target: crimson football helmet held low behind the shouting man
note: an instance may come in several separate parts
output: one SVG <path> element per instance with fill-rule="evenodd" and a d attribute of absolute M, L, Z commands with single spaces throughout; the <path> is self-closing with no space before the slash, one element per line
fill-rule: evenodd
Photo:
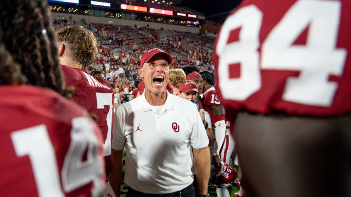
<path fill-rule="evenodd" d="M 235 180 L 235 170 L 232 166 L 221 161 L 220 167 L 211 164 L 210 183 L 215 187 L 230 187 Z"/>

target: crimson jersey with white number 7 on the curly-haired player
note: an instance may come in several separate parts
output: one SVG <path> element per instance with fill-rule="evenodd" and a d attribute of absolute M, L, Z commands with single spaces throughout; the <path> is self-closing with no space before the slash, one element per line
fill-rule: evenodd
<path fill-rule="evenodd" d="M 111 86 L 103 79 L 93 77 L 85 70 L 62 65 L 66 84 L 76 87 L 73 100 L 98 116 L 96 122 L 102 131 L 105 156 L 111 154 L 114 95 Z"/>

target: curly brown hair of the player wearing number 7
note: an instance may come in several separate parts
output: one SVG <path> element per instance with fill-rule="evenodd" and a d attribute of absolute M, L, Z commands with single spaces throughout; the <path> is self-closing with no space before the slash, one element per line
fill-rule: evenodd
<path fill-rule="evenodd" d="M 58 31 L 59 42 L 68 45 L 72 59 L 83 69 L 96 61 L 98 44 L 93 32 L 78 25 L 63 27 Z"/>

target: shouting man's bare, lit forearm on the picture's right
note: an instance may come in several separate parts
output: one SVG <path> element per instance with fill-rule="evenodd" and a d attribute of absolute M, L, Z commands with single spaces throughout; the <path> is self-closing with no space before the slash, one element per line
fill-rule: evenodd
<path fill-rule="evenodd" d="M 194 164 L 197 179 L 197 191 L 201 195 L 207 194 L 210 176 L 210 151 L 208 147 L 193 148 Z"/>

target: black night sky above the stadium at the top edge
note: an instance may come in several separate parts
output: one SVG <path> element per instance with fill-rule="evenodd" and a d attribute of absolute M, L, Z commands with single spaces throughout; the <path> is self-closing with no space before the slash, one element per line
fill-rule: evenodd
<path fill-rule="evenodd" d="M 205 16 L 233 10 L 241 0 L 183 0 L 183 6 L 194 9 Z"/>

